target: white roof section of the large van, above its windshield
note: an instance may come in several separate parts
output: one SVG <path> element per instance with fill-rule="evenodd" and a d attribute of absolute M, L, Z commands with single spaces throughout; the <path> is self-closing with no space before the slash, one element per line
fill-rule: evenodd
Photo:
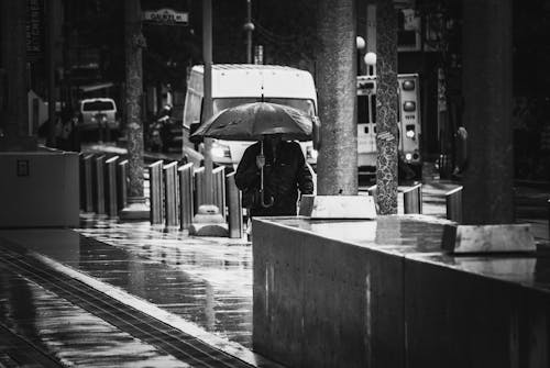
<path fill-rule="evenodd" d="M 193 67 L 188 88 L 202 92 L 204 66 Z M 244 82 L 244 81 L 248 82 Z M 287 66 L 253 64 L 212 65 L 212 98 L 264 97 L 311 99 L 317 93 L 311 74 Z"/>

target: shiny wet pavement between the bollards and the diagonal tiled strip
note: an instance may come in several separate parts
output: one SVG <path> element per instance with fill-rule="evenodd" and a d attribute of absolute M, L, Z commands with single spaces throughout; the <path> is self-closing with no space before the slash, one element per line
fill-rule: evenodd
<path fill-rule="evenodd" d="M 208 332 L 252 347 L 250 244 L 152 231 L 148 223 L 96 219 L 85 226 L 76 230 L 85 236 L 48 231 L 58 232 L 52 239 L 44 237 L 45 231 L 14 230 L 2 234 Z M 62 246 L 56 238 L 65 238 Z"/>

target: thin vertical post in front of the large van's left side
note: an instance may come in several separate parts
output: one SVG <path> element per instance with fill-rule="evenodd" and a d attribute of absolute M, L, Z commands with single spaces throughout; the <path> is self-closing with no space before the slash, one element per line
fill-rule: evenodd
<path fill-rule="evenodd" d="M 202 0 L 202 58 L 205 60 L 205 121 L 212 116 L 212 0 Z M 212 140 L 205 138 L 205 202 L 212 203 Z"/>

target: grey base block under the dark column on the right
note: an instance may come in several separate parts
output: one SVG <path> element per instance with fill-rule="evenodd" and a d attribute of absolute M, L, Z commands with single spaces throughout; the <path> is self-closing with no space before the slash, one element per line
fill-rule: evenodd
<path fill-rule="evenodd" d="M 446 225 L 442 248 L 452 253 L 535 252 L 529 224 Z"/>

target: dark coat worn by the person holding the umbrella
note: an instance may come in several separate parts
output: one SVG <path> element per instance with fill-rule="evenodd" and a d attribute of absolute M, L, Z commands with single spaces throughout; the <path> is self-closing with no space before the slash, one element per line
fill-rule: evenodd
<path fill-rule="evenodd" d="M 252 192 L 260 189 L 260 169 L 256 166 L 256 156 L 260 154 L 260 142 L 244 152 L 237 168 L 235 183 L 243 191 L 243 202 Z M 306 159 L 300 145 L 296 142 L 282 141 L 273 157 L 272 148 L 264 145 L 264 202 L 273 198 L 273 207 L 263 208 L 257 198 L 251 204 L 252 215 L 296 215 L 298 189 L 301 194 L 314 192 L 311 174 L 306 166 Z"/>

